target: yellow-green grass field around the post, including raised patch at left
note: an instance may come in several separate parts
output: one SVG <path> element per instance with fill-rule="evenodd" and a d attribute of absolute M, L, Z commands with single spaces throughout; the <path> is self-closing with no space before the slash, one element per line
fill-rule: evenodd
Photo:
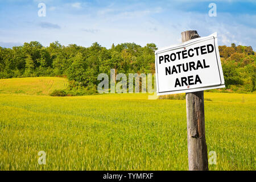
<path fill-rule="evenodd" d="M 0 80 L 0 170 L 188 169 L 184 100 L 36 96 L 49 93 L 51 79 L 55 88 L 67 85 L 64 78 Z M 30 80 L 34 91 L 23 87 Z M 208 152 L 217 154 L 209 169 L 255 170 L 256 94 L 206 92 L 205 98 Z M 46 165 L 38 164 L 39 151 Z"/>

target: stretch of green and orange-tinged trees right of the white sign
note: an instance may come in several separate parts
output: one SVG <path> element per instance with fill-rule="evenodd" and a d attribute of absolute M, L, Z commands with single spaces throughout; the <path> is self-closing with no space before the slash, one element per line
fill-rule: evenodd
<path fill-rule="evenodd" d="M 226 90 L 253 92 L 256 82 L 256 55 L 251 46 L 219 46 Z"/>

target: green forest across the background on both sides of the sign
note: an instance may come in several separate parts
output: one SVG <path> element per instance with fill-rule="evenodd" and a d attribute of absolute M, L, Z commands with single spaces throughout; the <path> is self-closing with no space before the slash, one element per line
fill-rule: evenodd
<path fill-rule="evenodd" d="M 107 49 L 93 43 L 90 47 L 53 42 L 48 47 L 39 42 L 24 43 L 13 48 L 0 47 L 0 78 L 54 76 L 67 77 L 66 90 L 54 94 L 79 96 L 97 93 L 100 73 L 155 73 L 154 43 L 142 47 L 122 43 Z M 256 55 L 251 46 L 219 46 L 225 89 L 211 92 L 254 92 Z"/>

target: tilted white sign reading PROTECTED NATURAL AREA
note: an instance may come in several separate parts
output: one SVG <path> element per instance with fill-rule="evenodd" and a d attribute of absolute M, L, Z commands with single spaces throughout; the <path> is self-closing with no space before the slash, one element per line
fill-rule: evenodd
<path fill-rule="evenodd" d="M 155 51 L 158 96 L 224 88 L 217 33 Z"/>

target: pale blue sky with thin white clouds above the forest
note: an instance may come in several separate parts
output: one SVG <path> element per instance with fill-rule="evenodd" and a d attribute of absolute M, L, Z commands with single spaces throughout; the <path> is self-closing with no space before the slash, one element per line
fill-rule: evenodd
<path fill-rule="evenodd" d="M 46 16 L 38 16 L 38 4 Z M 217 16 L 210 17 L 209 3 Z M 94 42 L 134 42 L 158 47 L 181 43 L 180 32 L 197 30 L 200 36 L 218 34 L 218 44 L 256 48 L 256 1 L 81 1 L 0 0 L 0 46 L 12 47 L 38 41 L 43 46 L 61 44 L 89 47 Z"/>

